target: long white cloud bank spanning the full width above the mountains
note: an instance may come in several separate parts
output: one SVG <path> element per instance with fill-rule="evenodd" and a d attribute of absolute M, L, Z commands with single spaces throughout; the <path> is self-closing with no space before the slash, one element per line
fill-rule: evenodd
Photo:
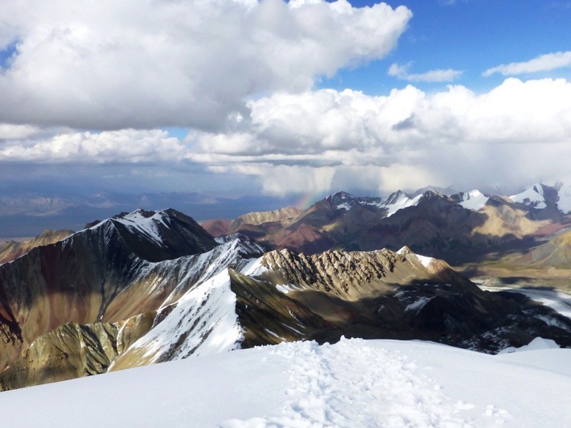
<path fill-rule="evenodd" d="M 525 185 L 568 175 L 570 112 L 565 79 L 507 78 L 481 94 L 460 85 L 436 93 L 408 85 L 383 96 L 279 91 L 248 101 L 229 131 L 193 130 L 184 141 L 159 129 L 46 136 L 5 127 L 0 171 L 16 163 L 52 165 L 54 173 L 92 165 L 123 174 L 125 186 L 140 188 L 146 177 L 145 185 L 160 180 L 164 188 L 270 195 Z"/>

